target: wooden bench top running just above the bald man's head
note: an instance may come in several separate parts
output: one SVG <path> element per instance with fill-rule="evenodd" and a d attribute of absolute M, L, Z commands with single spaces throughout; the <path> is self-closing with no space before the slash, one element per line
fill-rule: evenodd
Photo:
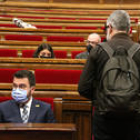
<path fill-rule="evenodd" d="M 104 30 L 80 30 L 80 29 L 23 29 L 23 28 L 0 28 L 1 38 L 4 40 L 6 34 L 38 35 L 47 40 L 48 36 L 79 36 L 85 39 L 90 33 L 98 33 L 105 37 Z M 35 40 L 34 40 L 35 41 Z M 43 41 L 43 40 L 42 40 Z"/>

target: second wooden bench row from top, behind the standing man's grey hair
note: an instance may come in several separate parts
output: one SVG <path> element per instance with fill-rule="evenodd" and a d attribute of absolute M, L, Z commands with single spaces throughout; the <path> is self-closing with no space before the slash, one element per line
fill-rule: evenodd
<path fill-rule="evenodd" d="M 43 18 L 50 18 L 50 17 L 70 17 L 70 18 L 75 18 L 75 19 L 79 19 L 79 18 L 93 18 L 93 17 L 104 17 L 107 18 L 110 13 L 112 13 L 113 10 L 95 10 L 91 9 L 89 11 L 80 11 L 77 9 L 73 9 L 73 10 L 69 10 L 68 9 L 63 9 L 63 10 L 29 10 L 29 9 L 10 9 L 10 8 L 2 8 L 0 10 L 0 14 L 1 15 L 7 15 L 7 16 L 11 16 L 11 17 L 17 17 L 17 18 L 22 18 L 22 17 L 30 17 L 30 18 L 37 18 L 37 19 L 43 19 Z M 127 10 L 128 13 L 130 14 L 131 17 L 135 17 L 135 18 L 139 18 L 139 14 L 140 12 L 138 10 Z"/>

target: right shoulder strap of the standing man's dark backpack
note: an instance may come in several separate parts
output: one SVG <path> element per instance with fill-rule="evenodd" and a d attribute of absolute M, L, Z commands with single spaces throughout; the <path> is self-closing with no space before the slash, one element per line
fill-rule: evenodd
<path fill-rule="evenodd" d="M 132 58 L 133 55 L 140 49 L 140 45 L 138 43 L 134 43 L 132 47 L 128 50 L 129 56 Z"/>

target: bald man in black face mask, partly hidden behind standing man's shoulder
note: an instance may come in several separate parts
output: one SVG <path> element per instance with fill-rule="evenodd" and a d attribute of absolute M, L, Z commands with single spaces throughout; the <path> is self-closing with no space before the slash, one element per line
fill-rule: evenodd
<path fill-rule="evenodd" d="M 86 51 L 76 55 L 76 59 L 87 59 L 92 48 L 101 42 L 101 37 L 97 33 L 92 33 L 88 36 L 86 42 Z"/>

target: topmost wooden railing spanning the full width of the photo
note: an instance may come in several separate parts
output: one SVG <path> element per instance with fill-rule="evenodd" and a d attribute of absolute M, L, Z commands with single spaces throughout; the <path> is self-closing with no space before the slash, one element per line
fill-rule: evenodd
<path fill-rule="evenodd" d="M 70 0 L 69 0 L 70 1 Z M 116 0 L 115 0 L 116 1 Z M 6 2 L 1 2 L 0 6 L 1 7 L 19 7 L 19 8 L 41 8 L 41 9 L 84 9 L 84 10 L 92 10 L 94 9 L 135 9 L 138 10 L 140 9 L 140 5 L 138 4 L 139 1 L 135 0 L 134 2 L 130 0 L 125 0 L 123 4 L 119 3 L 118 0 L 115 2 L 113 1 L 112 3 L 109 3 L 108 1 L 105 0 L 99 0 L 99 2 L 95 2 L 93 4 L 90 2 L 89 4 L 86 4 L 85 1 L 71 1 L 73 3 L 69 3 L 67 1 L 60 0 L 50 0 L 50 3 L 41 3 L 41 2 L 22 2 L 22 1 L 6 1 Z M 77 3 L 74 3 L 77 2 Z M 127 3 L 128 2 L 128 3 Z M 79 4 L 80 3 L 80 4 Z M 115 4 L 114 4 L 115 3 Z"/>

